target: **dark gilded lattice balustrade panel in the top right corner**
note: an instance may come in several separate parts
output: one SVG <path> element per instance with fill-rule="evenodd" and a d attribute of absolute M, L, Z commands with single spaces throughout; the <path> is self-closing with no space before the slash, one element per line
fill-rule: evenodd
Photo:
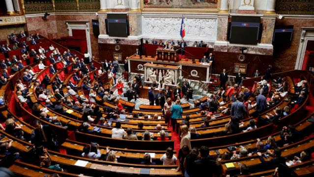
<path fill-rule="evenodd" d="M 314 0 L 277 0 L 276 13 L 314 15 Z"/>

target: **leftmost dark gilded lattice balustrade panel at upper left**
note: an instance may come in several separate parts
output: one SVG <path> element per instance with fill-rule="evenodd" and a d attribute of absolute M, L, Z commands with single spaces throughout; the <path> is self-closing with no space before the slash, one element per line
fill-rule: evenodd
<path fill-rule="evenodd" d="M 24 0 L 25 13 L 45 13 L 53 12 L 52 0 Z"/>

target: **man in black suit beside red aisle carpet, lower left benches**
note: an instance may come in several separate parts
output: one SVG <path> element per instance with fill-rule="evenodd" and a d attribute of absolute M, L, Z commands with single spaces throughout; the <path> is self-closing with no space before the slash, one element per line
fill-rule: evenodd
<path fill-rule="evenodd" d="M 44 146 L 52 149 L 57 148 L 56 134 L 49 125 L 42 125 L 39 120 L 35 120 L 35 129 L 31 133 L 31 143 L 36 147 Z"/>

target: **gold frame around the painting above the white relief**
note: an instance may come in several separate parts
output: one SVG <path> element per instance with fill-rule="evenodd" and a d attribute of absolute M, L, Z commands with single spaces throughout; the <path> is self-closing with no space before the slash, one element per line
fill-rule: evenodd
<path fill-rule="evenodd" d="M 142 12 L 205 12 L 218 13 L 220 10 L 220 0 L 217 0 L 217 8 L 144 8 L 144 0 L 141 0 Z"/>

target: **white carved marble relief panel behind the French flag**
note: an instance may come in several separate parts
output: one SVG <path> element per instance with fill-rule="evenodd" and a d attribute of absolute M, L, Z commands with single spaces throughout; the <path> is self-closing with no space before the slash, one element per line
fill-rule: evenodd
<path fill-rule="evenodd" d="M 159 36 L 166 39 L 180 38 L 181 18 L 143 17 L 144 38 Z M 217 37 L 217 19 L 186 18 L 185 40 L 215 41 Z"/>

